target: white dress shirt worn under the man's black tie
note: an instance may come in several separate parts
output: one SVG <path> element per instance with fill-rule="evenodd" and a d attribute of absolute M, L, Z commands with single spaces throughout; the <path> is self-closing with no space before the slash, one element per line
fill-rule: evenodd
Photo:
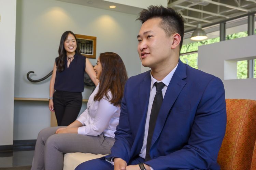
<path fill-rule="evenodd" d="M 172 76 L 177 68 L 178 64 L 176 67 L 165 77 L 161 82 L 165 84 L 165 86 L 162 88 L 162 94 L 163 98 L 165 97 L 165 92 L 167 90 L 167 87 L 172 79 Z M 148 134 L 148 126 L 149 126 L 149 121 L 150 121 L 150 114 L 151 114 L 151 109 L 152 109 L 152 104 L 156 95 L 156 87 L 154 85 L 155 82 L 159 82 L 156 79 L 153 78 L 152 74 L 151 75 L 151 90 L 150 90 L 150 100 L 148 103 L 148 108 L 147 108 L 147 118 L 146 118 L 146 123 L 145 123 L 145 132 L 144 132 L 144 138 L 143 138 L 143 145 L 140 151 L 139 156 L 145 159 L 146 156 L 146 145 L 147 145 L 147 134 Z M 152 168 L 151 168 L 152 169 Z"/>

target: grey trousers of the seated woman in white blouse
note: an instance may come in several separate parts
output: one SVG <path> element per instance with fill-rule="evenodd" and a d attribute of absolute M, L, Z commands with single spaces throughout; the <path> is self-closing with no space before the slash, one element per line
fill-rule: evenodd
<path fill-rule="evenodd" d="M 62 126 L 65 127 L 65 126 Z M 59 127 L 41 130 L 35 144 L 31 170 L 62 170 L 65 153 L 82 152 L 110 154 L 115 139 L 99 136 L 86 136 L 74 133 L 54 134 Z"/>

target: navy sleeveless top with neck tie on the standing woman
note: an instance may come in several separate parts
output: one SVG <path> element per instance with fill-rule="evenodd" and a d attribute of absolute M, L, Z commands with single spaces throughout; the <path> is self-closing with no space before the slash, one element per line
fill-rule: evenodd
<path fill-rule="evenodd" d="M 55 58 L 56 65 L 57 58 Z M 67 57 L 65 57 L 65 69 L 62 72 L 56 71 L 54 89 L 57 91 L 83 92 L 85 59 L 85 56 L 75 54 L 68 68 Z"/>

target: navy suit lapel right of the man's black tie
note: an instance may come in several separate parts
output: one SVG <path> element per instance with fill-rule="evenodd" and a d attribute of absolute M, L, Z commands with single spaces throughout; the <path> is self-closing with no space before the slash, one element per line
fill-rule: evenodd
<path fill-rule="evenodd" d="M 151 147 L 154 145 L 155 141 L 159 137 L 165 124 L 166 118 L 170 112 L 170 109 L 172 108 L 177 97 L 179 96 L 181 90 L 185 86 L 186 82 L 183 79 L 185 79 L 186 77 L 186 66 L 181 61 L 179 61 L 179 65 L 173 74 L 173 77 L 167 87 L 165 97 L 163 98 L 163 102 L 156 120 Z"/>

